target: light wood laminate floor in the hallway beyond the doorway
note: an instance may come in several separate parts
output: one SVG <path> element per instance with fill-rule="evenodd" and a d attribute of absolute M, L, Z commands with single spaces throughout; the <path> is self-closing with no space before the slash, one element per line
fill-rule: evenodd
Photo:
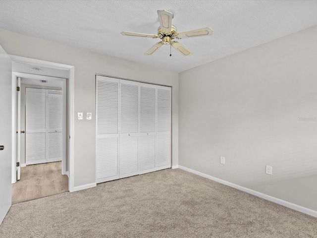
<path fill-rule="evenodd" d="M 12 204 L 68 191 L 68 177 L 61 175 L 61 162 L 28 165 L 21 179 L 12 184 Z"/>

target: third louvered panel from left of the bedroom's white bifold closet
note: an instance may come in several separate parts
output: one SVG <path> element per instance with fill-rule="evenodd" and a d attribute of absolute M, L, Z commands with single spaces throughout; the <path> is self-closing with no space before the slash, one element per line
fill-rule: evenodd
<path fill-rule="evenodd" d="M 140 174 L 156 171 L 157 86 L 140 83 Z"/>

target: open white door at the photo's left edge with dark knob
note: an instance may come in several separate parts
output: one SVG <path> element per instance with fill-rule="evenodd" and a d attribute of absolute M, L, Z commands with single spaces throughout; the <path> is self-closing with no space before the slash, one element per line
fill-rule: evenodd
<path fill-rule="evenodd" d="M 11 206 L 12 81 L 11 59 L 0 46 L 0 224 Z"/>

